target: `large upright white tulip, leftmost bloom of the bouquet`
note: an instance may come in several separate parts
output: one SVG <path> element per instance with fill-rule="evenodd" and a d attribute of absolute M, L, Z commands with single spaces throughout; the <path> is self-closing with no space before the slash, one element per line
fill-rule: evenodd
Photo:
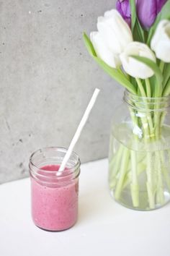
<path fill-rule="evenodd" d="M 90 38 L 94 49 L 110 67 L 119 67 L 120 54 L 128 43 L 133 41 L 130 27 L 117 10 L 112 9 L 98 17 L 97 32 L 91 32 Z"/>

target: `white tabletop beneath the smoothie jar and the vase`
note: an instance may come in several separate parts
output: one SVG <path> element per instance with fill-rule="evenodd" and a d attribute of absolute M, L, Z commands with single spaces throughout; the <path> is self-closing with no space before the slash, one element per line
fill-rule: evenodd
<path fill-rule="evenodd" d="M 1 256 L 170 256 L 170 204 L 149 212 L 117 204 L 107 186 L 107 159 L 81 165 L 79 221 L 38 229 L 30 215 L 30 179 L 0 185 Z"/>

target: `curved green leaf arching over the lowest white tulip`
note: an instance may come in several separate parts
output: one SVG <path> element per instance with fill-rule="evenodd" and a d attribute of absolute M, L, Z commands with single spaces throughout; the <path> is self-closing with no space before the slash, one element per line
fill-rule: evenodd
<path fill-rule="evenodd" d="M 159 69 L 159 67 L 156 65 L 156 63 L 154 61 L 151 61 L 151 59 L 148 59 L 146 57 L 134 56 L 134 55 L 131 57 L 140 62 L 143 62 L 144 64 L 146 64 L 148 67 L 150 67 L 153 70 L 153 72 L 156 76 L 155 97 L 159 97 L 162 93 L 162 81 L 163 81 L 161 69 Z"/>

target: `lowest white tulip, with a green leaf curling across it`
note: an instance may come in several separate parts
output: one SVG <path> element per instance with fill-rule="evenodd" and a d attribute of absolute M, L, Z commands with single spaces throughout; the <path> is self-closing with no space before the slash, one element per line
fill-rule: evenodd
<path fill-rule="evenodd" d="M 151 77 L 154 74 L 153 70 L 146 64 L 131 57 L 132 55 L 146 57 L 156 62 L 156 56 L 153 54 L 153 51 L 151 51 L 145 43 L 132 42 L 129 43 L 125 51 L 120 54 L 120 60 L 122 61 L 122 67 L 125 72 L 132 77 L 141 79 Z"/>

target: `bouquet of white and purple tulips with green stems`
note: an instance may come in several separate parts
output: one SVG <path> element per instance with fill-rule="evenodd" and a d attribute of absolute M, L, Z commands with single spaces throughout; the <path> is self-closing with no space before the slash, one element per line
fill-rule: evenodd
<path fill-rule="evenodd" d="M 116 9 L 98 17 L 97 31 L 90 38 L 84 33 L 84 43 L 99 66 L 130 93 L 133 106 L 129 108 L 133 137 L 109 158 L 110 189 L 121 201 L 129 187 L 133 208 L 164 205 L 166 194 L 170 195 L 169 170 L 164 164 L 167 155 L 170 159 L 170 147 L 165 153 L 158 145 L 164 142 L 167 111 L 162 109 L 170 95 L 170 0 L 117 1 Z M 134 132 L 136 127 L 140 132 Z M 143 145 L 143 153 L 136 153 L 134 145 L 140 150 Z"/>

